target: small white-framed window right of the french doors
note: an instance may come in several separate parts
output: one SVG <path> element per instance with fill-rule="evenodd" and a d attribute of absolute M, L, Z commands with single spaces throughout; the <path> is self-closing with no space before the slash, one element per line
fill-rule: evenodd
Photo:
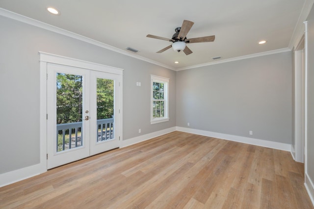
<path fill-rule="evenodd" d="M 169 78 L 151 75 L 151 124 L 169 121 Z"/>

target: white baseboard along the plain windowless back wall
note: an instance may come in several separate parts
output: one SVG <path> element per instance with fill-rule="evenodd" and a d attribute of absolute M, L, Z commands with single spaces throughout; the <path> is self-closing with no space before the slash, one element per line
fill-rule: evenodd
<path fill-rule="evenodd" d="M 245 143 L 245 144 L 252 144 L 252 145 L 257 145 L 257 146 L 268 147 L 268 148 L 273 148 L 273 149 L 277 149 L 277 150 L 284 150 L 284 151 L 291 152 L 291 144 L 285 144 L 285 143 L 280 143 L 280 142 L 249 138 L 249 137 L 244 137 L 244 136 L 236 136 L 236 135 L 230 135 L 230 134 L 225 134 L 225 133 L 217 133 L 217 132 L 211 132 L 211 131 L 189 129 L 189 128 L 183 128 L 183 127 L 177 127 L 177 131 L 194 133 L 194 134 L 198 134 L 198 135 L 204 135 L 204 136 L 209 136 L 209 137 L 226 139 L 229 141 L 236 141 L 236 142 L 241 142 L 241 143 Z"/>

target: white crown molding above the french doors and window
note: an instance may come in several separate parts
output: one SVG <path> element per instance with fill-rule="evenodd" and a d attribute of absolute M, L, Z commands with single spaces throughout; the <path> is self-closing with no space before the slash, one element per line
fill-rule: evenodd
<path fill-rule="evenodd" d="M 50 31 L 58 33 L 58 34 L 65 35 L 65 36 L 68 36 L 68 37 L 71 37 L 71 38 L 74 38 L 74 39 L 77 39 L 80 41 L 84 41 L 86 43 L 89 43 L 89 44 L 92 44 L 92 45 L 95 45 L 98 47 L 102 47 L 104 49 L 107 49 L 107 50 L 110 50 L 113 52 L 117 52 L 117 53 L 121 53 L 121 54 L 124 54 L 127 56 L 131 56 L 135 59 L 149 62 L 149 63 L 155 64 L 155 65 L 158 65 L 158 66 L 170 69 L 170 70 L 174 70 L 174 71 L 176 70 L 175 68 L 168 66 L 168 65 L 165 65 L 161 62 L 157 62 L 157 61 L 154 61 L 152 59 L 148 59 L 148 58 L 140 56 L 140 55 L 132 54 L 131 52 L 123 51 L 121 49 L 118 49 L 118 48 L 112 47 L 110 45 L 104 44 L 100 41 L 96 41 L 94 39 L 87 38 L 87 37 L 79 35 L 77 33 L 74 33 L 74 32 L 71 32 L 71 31 L 56 27 L 56 26 L 49 25 L 47 23 L 43 23 L 43 22 L 40 22 L 38 20 L 34 20 L 32 18 L 11 12 L 11 11 L 3 9 L 3 8 L 0 8 L 0 16 L 7 17 L 7 18 L 10 18 L 10 19 L 22 22 L 22 23 L 26 23 L 28 25 L 32 25 L 32 26 L 40 27 L 40 28 L 43 28 L 46 30 L 50 30 Z"/>

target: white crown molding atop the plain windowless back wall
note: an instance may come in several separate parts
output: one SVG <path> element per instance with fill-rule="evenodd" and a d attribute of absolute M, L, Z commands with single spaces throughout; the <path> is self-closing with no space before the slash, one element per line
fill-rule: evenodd
<path fill-rule="evenodd" d="M 214 61 L 214 62 L 207 62 L 199 65 L 192 65 L 184 68 L 178 68 L 176 71 L 181 71 L 181 70 L 188 70 L 192 68 L 199 68 L 199 67 L 204 67 L 204 66 L 209 66 L 209 65 L 216 65 L 216 64 L 221 64 L 225 62 L 233 62 L 241 59 L 248 59 L 248 58 L 253 58 L 253 57 L 258 57 L 258 56 L 264 56 L 264 55 L 270 55 L 270 54 L 275 54 L 275 53 L 282 53 L 282 52 L 291 52 L 289 48 L 284 48 L 284 49 L 279 49 L 279 50 L 272 50 L 268 52 L 260 52 L 260 53 L 253 53 L 253 54 L 248 54 L 244 56 L 238 56 L 234 58 L 229 58 L 229 59 L 223 59 L 219 61 Z"/>

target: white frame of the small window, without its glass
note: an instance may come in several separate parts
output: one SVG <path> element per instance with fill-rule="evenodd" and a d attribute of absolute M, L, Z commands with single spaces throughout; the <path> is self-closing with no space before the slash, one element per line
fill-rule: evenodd
<path fill-rule="evenodd" d="M 153 82 L 164 84 L 164 116 L 153 118 Z M 151 75 L 151 124 L 169 121 L 169 78 Z"/>

